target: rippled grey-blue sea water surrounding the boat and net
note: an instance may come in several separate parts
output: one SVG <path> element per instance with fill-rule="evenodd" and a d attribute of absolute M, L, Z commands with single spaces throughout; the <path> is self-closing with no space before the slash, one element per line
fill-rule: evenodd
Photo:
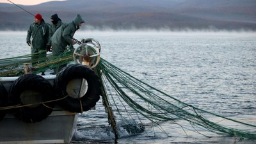
<path fill-rule="evenodd" d="M 102 58 L 183 102 L 256 124 L 256 33 L 77 31 L 74 37 L 95 38 Z M 0 58 L 30 53 L 26 31 L 0 32 L 0 42 Z M 140 134 L 120 132 L 117 142 L 256 143 L 217 134 L 186 135 L 170 122 L 161 127 L 168 136 L 146 126 Z M 115 143 L 101 100 L 95 110 L 79 115 L 77 128 L 72 143 Z"/>

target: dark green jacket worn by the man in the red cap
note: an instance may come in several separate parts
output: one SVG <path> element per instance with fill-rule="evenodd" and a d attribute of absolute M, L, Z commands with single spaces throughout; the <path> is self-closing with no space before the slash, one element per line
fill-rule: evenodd
<path fill-rule="evenodd" d="M 49 40 L 49 26 L 41 21 L 41 24 L 31 24 L 28 29 L 26 42 L 31 42 L 32 49 L 45 50 Z"/>

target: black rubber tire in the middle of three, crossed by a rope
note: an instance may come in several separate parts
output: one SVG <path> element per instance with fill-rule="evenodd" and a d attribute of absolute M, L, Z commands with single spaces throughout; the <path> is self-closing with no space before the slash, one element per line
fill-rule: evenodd
<path fill-rule="evenodd" d="M 16 79 L 10 87 L 8 92 L 8 102 L 10 105 L 24 105 L 21 102 L 20 95 L 26 90 L 35 90 L 44 95 L 42 102 L 52 100 L 55 97 L 54 89 L 47 79 L 35 74 L 26 74 Z M 52 108 L 54 108 L 54 102 L 47 102 L 45 104 L 39 104 L 35 108 L 26 106 L 15 108 L 12 112 L 22 122 L 34 123 L 47 118 L 52 113 Z"/>

